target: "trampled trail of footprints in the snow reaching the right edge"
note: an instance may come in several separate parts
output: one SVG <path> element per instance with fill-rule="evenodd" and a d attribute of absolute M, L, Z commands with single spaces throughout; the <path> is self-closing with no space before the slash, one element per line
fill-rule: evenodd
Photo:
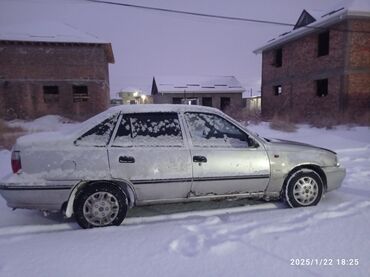
<path fill-rule="evenodd" d="M 227 255 L 258 236 L 274 233 L 306 231 L 322 221 L 358 214 L 369 209 L 370 201 L 345 202 L 324 210 L 316 207 L 303 208 L 293 217 L 275 221 L 240 223 L 238 220 L 224 222 L 213 216 L 197 225 L 183 225 L 188 232 L 169 243 L 169 251 L 183 256 L 196 256 L 203 251 L 215 255 Z"/>

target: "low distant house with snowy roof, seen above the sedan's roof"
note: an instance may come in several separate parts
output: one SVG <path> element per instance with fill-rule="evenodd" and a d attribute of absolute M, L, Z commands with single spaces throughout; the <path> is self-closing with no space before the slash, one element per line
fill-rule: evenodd
<path fill-rule="evenodd" d="M 189 104 L 241 108 L 245 89 L 234 76 L 218 77 L 154 77 L 153 103 Z"/>

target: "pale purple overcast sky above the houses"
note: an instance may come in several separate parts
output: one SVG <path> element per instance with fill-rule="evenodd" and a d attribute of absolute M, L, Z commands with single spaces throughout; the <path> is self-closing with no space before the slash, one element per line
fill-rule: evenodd
<path fill-rule="evenodd" d="M 190 12 L 294 24 L 303 9 L 338 0 L 112 0 Z M 253 50 L 291 29 L 92 3 L 85 0 L 0 0 L 0 26 L 61 22 L 112 43 L 110 91 L 150 94 L 153 76 L 234 75 L 256 94 L 261 55 Z M 51 25 L 52 26 L 52 25 Z"/>

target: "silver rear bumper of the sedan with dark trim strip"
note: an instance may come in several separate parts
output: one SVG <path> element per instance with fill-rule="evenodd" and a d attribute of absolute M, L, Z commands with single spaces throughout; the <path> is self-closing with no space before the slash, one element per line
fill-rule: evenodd
<path fill-rule="evenodd" d="M 0 194 L 11 208 L 59 211 L 68 200 L 72 186 L 57 182 L 7 182 L 0 181 Z"/>

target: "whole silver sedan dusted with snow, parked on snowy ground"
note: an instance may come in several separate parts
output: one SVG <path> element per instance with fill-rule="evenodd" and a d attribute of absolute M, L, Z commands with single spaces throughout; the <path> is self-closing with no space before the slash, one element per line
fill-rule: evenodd
<path fill-rule="evenodd" d="M 345 169 L 335 152 L 270 140 L 214 108 L 127 105 L 68 132 L 21 137 L 0 181 L 12 208 L 62 210 L 83 228 L 119 225 L 134 206 L 220 198 L 316 205 Z"/>

